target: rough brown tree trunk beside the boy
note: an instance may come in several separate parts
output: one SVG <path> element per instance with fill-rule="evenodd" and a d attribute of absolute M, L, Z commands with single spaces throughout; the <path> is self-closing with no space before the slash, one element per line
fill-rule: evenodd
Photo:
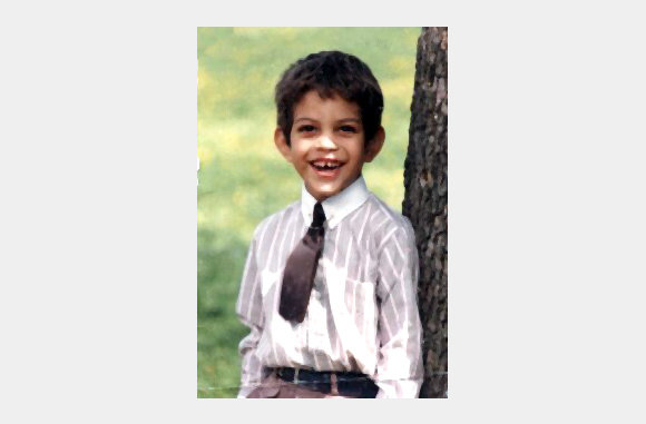
<path fill-rule="evenodd" d="M 402 213 L 415 230 L 424 383 L 420 397 L 447 397 L 447 124 L 448 30 L 423 28 L 418 39 Z"/>

